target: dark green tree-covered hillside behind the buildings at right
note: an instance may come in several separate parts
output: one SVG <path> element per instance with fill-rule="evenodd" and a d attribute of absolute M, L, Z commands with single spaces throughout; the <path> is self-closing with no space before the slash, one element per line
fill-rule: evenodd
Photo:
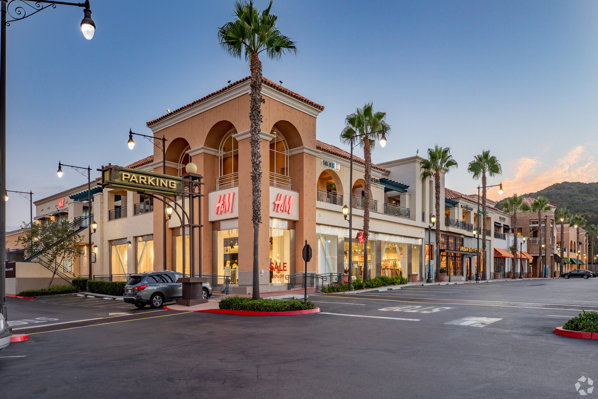
<path fill-rule="evenodd" d="M 506 191 L 508 191 L 508 188 L 506 188 Z M 582 214 L 587 220 L 587 224 L 598 225 L 598 182 L 563 181 L 535 193 L 523 195 L 532 198 L 546 197 L 550 205 L 557 208 L 567 208 L 572 214 Z M 504 202 L 505 200 L 501 200 L 496 204 L 496 207 L 502 209 Z"/>

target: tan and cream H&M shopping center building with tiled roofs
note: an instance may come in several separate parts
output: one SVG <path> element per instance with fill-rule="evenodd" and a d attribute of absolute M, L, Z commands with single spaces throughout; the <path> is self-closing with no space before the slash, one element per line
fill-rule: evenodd
<path fill-rule="evenodd" d="M 437 215 L 437 226 L 428 229 L 434 212 L 434 181 L 420 179 L 422 158 L 417 156 L 372 165 L 370 237 L 363 242 L 364 160 L 353 158 L 351 184 L 349 153 L 316 139 L 316 121 L 324 106 L 266 78 L 261 96 L 261 291 L 285 290 L 288 276 L 303 272 L 305 240 L 315 252 L 307 264 L 310 273 L 350 270 L 359 276 L 367 256 L 371 276 L 414 275 L 423 281 L 426 261 L 434 261 L 438 224 L 441 267 L 447 268 L 452 280 L 474 275 L 478 255 L 485 256 L 489 265 L 484 267 L 483 278 L 492 278 L 496 267 L 503 272 L 510 267 L 510 216 L 489 201 L 487 254 L 481 254 L 481 239 L 478 246 L 473 234 L 478 223 L 477 199 L 445 188 L 444 175 L 440 197 L 445 214 Z M 243 78 L 147 123 L 155 136 L 167 139 L 167 174 L 181 176 L 185 165 L 193 162 L 203 176 L 203 228 L 201 241 L 197 237 L 194 243 L 202 251 L 196 251 L 195 261 L 201 264 L 203 275 L 228 276 L 233 293 L 249 293 L 252 287 L 249 102 L 249 78 Z M 153 156 L 128 167 L 162 173 L 162 150 L 154 148 Z M 162 269 L 188 273 L 189 234 L 182 231 L 178 217 L 167 221 L 163 259 L 161 203 L 120 188 L 96 186 L 91 192 L 97 230 L 91 240 L 87 230 L 81 233 L 86 254 L 72 262 L 74 275 L 89 273 L 89 248 L 97 278 L 124 279 L 131 273 Z M 60 213 L 72 219 L 89 212 L 86 202 L 84 185 L 35 202 L 36 214 L 40 218 Z M 343 217 L 343 205 L 353 207 L 352 233 Z"/>

